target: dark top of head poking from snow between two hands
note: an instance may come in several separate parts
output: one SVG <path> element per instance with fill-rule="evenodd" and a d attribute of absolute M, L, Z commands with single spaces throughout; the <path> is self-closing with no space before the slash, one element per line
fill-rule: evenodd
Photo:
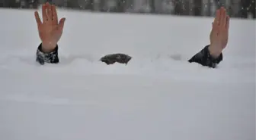
<path fill-rule="evenodd" d="M 114 64 L 116 62 L 120 64 L 128 64 L 131 59 L 132 57 L 127 54 L 107 54 L 102 57 L 100 61 L 105 62 L 107 65 Z"/>

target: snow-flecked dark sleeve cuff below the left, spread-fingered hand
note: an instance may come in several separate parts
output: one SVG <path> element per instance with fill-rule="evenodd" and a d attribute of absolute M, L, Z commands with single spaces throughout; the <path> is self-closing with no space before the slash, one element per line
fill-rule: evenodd
<path fill-rule="evenodd" d="M 58 58 L 58 45 L 54 50 L 50 53 L 45 53 L 42 51 L 42 44 L 40 44 L 37 48 L 37 62 L 40 64 L 50 63 L 50 64 L 57 64 L 59 63 Z"/>

